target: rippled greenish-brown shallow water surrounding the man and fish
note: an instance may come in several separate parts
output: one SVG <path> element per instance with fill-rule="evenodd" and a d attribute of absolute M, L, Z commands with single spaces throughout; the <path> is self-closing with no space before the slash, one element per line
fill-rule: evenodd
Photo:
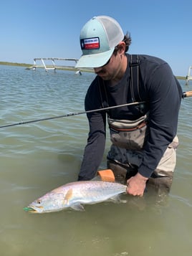
<path fill-rule="evenodd" d="M 94 76 L 0 66 L 0 125 L 84 111 Z M 183 91 L 192 90 L 180 82 Z M 95 204 L 85 212 L 29 214 L 23 207 L 77 179 L 86 115 L 0 128 L 0 255 L 191 255 L 191 105 L 192 98 L 182 100 L 171 193 L 164 199 L 125 195 L 126 204 Z M 108 140 L 105 156 L 109 146 Z"/>

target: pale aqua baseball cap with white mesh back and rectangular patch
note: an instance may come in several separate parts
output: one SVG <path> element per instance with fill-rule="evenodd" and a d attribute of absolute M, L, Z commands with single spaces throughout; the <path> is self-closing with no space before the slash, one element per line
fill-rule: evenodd
<path fill-rule="evenodd" d="M 124 38 L 120 24 L 110 16 L 95 16 L 80 32 L 82 56 L 75 67 L 101 67 Z"/>

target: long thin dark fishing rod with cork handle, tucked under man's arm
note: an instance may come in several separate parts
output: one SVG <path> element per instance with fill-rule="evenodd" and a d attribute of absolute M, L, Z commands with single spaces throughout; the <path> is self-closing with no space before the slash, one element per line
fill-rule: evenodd
<path fill-rule="evenodd" d="M 182 93 L 182 98 L 187 98 L 187 97 L 192 97 L 192 90 Z M 102 110 L 110 110 L 112 108 L 120 108 L 120 107 L 129 106 L 129 105 L 138 105 L 138 104 L 141 104 L 141 103 L 145 103 L 145 101 L 135 102 L 135 103 L 126 103 L 126 104 L 123 104 L 123 105 L 115 105 L 115 106 L 111 106 L 111 107 L 107 107 L 107 108 L 97 108 L 97 109 L 94 109 L 94 110 L 87 110 L 87 111 L 82 111 L 82 112 L 77 112 L 77 113 L 68 113 L 68 114 L 65 114 L 65 115 L 57 115 L 57 116 L 52 116 L 52 117 L 49 117 L 49 118 L 39 118 L 39 119 L 34 119 L 34 120 L 21 121 L 19 123 L 11 123 L 11 124 L 8 124 L 8 125 L 1 125 L 0 128 L 6 128 L 6 127 L 11 127 L 11 126 L 16 126 L 16 125 L 25 125 L 27 123 L 37 123 L 37 122 L 40 122 L 40 121 L 52 120 L 52 119 L 57 119 L 57 118 L 67 118 L 67 117 L 72 116 L 72 115 L 82 115 L 82 114 L 93 113 L 93 112 L 98 112 L 98 111 L 102 111 Z"/>

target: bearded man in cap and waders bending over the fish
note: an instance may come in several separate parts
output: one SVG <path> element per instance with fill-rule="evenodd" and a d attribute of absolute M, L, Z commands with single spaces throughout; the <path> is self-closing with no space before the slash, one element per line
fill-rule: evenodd
<path fill-rule="evenodd" d="M 182 92 L 165 61 L 125 53 L 130 43 L 130 35 L 124 36 L 109 16 L 95 16 L 82 27 L 76 67 L 92 67 L 97 75 L 87 90 L 85 110 L 116 108 L 87 113 L 90 133 L 79 180 L 97 173 L 107 116 L 112 141 L 107 167 L 117 180 L 127 180 L 128 194 L 143 196 L 146 183 L 170 189 Z"/>

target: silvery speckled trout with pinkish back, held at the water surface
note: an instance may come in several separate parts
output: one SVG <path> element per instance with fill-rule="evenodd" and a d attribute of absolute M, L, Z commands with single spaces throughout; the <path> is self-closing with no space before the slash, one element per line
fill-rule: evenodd
<path fill-rule="evenodd" d="M 76 181 L 59 186 L 25 207 L 26 212 L 57 212 L 72 208 L 83 211 L 82 204 L 97 204 L 117 199 L 127 186 L 108 181 Z"/>

